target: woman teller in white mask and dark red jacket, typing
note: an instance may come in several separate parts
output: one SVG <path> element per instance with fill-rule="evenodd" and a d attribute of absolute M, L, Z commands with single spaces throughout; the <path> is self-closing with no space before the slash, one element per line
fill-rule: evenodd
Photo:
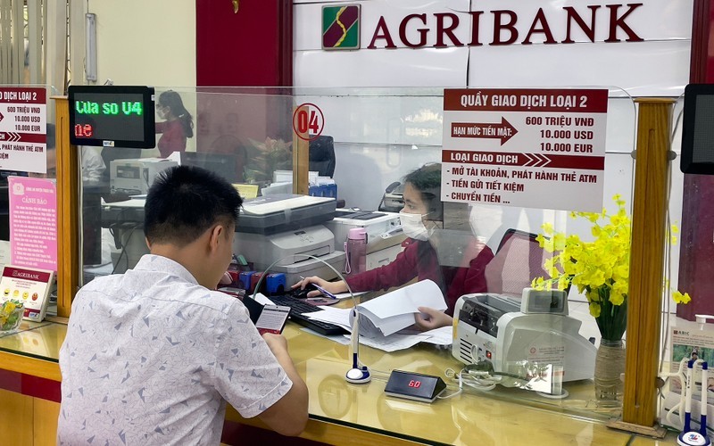
<path fill-rule="evenodd" d="M 446 326 L 452 323 L 453 307 L 463 294 L 486 292 L 486 265 L 494 253 L 486 244 L 477 243 L 473 237 L 465 246 L 465 255 L 459 266 L 444 266 L 439 262 L 437 250 L 444 243 L 444 205 L 441 202 L 441 164 L 433 163 L 411 171 L 404 177 L 404 207 L 399 212 L 402 228 L 407 238 L 403 251 L 383 267 L 370 269 L 346 278 L 345 281 L 328 282 L 320 277 L 305 277 L 293 285 L 304 288 L 308 284 L 319 285 L 328 293 L 345 293 L 347 284 L 353 292 L 387 290 L 401 286 L 413 278 L 431 279 L 444 293 L 448 309 L 446 313 L 419 307 L 421 314 L 415 316 L 422 329 Z M 311 291 L 309 297 L 319 295 Z"/>

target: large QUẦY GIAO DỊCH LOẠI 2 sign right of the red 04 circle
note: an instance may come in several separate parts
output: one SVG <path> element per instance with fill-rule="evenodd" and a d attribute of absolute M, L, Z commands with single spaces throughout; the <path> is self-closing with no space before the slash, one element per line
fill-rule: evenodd
<path fill-rule="evenodd" d="M 608 91 L 444 90 L 444 202 L 602 211 Z"/>

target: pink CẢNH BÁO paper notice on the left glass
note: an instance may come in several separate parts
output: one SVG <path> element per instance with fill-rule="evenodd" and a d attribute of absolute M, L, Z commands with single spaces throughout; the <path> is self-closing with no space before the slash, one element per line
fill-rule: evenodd
<path fill-rule="evenodd" d="M 57 187 L 46 178 L 8 177 L 10 261 L 57 270 Z"/>

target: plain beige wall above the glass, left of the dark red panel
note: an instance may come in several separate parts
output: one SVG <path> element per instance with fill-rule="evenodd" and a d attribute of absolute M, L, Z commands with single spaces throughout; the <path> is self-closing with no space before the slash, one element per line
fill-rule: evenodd
<path fill-rule="evenodd" d="M 195 0 L 88 0 L 87 12 L 98 84 L 195 86 Z"/>

